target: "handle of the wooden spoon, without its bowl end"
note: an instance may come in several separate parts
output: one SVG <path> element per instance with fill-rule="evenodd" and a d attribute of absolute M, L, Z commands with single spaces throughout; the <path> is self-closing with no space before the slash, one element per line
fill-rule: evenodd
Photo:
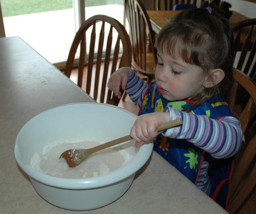
<path fill-rule="evenodd" d="M 162 130 L 170 129 L 170 128 L 174 127 L 174 126 L 181 125 L 181 124 L 182 124 L 182 118 L 179 118 L 179 119 L 176 119 L 176 120 L 164 123 L 162 125 L 159 125 L 156 128 L 156 130 L 157 131 L 162 131 Z M 130 135 L 126 135 L 124 137 L 120 137 L 120 138 L 115 139 L 113 141 L 109 141 L 107 143 L 103 143 L 101 145 L 98 145 L 98 146 L 93 147 L 93 148 L 88 149 L 88 150 L 90 150 L 91 153 L 94 153 L 94 152 L 100 151 L 102 149 L 106 149 L 108 147 L 112 147 L 112 146 L 117 145 L 119 143 L 123 143 L 123 142 L 130 141 L 130 140 L 132 140 L 131 136 Z"/>

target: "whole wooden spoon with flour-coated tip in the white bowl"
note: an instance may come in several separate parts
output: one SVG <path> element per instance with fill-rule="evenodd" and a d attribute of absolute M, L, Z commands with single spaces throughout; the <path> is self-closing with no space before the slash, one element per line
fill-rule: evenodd
<path fill-rule="evenodd" d="M 178 126 L 178 125 L 181 125 L 181 124 L 182 124 L 182 119 L 179 118 L 179 119 L 170 121 L 168 123 L 164 123 L 162 125 L 159 125 L 156 128 L 156 130 L 157 131 L 163 131 L 165 129 L 170 129 L 171 127 Z M 75 167 L 78 164 L 80 164 L 80 162 L 82 162 L 84 159 L 86 159 L 89 155 L 91 155 L 92 153 L 98 152 L 102 149 L 106 149 L 108 147 L 112 147 L 112 146 L 117 145 L 119 143 L 123 143 L 125 141 L 130 141 L 130 140 L 132 140 L 130 135 L 126 135 L 124 137 L 120 137 L 120 138 L 115 139 L 113 141 L 109 141 L 107 143 L 98 145 L 96 147 L 92 147 L 90 149 L 68 149 L 60 155 L 60 158 L 66 159 L 69 167 Z"/>

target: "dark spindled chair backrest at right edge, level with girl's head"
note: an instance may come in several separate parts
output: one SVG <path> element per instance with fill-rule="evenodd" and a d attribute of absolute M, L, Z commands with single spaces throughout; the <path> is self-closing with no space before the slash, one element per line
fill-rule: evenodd
<path fill-rule="evenodd" d="M 238 70 L 244 72 L 252 79 L 256 73 L 256 19 L 239 22 L 233 28 Z"/>

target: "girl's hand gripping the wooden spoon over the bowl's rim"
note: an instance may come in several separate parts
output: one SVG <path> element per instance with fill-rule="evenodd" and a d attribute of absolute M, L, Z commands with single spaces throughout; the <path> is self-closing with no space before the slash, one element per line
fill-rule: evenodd
<path fill-rule="evenodd" d="M 156 128 L 168 121 L 170 121 L 169 112 L 154 112 L 140 115 L 130 131 L 130 136 L 136 141 L 135 146 L 140 147 L 146 141 L 154 139 L 160 134 L 160 132 L 156 131 Z"/>

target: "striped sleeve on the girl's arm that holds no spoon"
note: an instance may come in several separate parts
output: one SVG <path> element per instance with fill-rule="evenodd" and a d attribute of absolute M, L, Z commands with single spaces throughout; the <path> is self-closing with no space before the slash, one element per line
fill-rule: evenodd
<path fill-rule="evenodd" d="M 136 75 L 132 69 L 130 69 L 128 82 L 126 85 L 126 93 L 139 108 L 147 88 L 148 84 L 141 77 Z"/>

